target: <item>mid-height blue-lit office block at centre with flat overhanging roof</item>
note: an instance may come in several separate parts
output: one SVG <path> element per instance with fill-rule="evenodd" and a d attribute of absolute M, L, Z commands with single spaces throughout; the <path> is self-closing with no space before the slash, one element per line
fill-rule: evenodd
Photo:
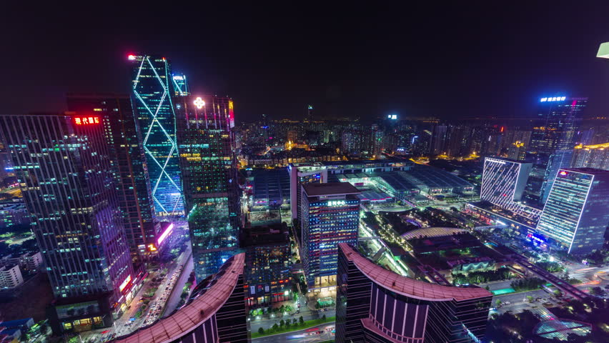
<path fill-rule="evenodd" d="M 336 285 L 339 243 L 357 244 L 361 194 L 347 182 L 302 185 L 300 257 L 310 288 Z"/>

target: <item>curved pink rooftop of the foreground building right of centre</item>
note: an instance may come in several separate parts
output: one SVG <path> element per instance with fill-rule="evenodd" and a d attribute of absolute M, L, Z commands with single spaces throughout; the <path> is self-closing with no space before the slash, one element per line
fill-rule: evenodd
<path fill-rule="evenodd" d="M 422 282 L 410 277 L 404 277 L 400 274 L 391 272 L 377 264 L 374 264 L 370 259 L 362 256 L 353 247 L 347 243 L 340 243 L 339 249 L 345 253 L 347 259 L 355 264 L 360 272 L 366 275 L 368 279 L 380 287 L 389 289 L 392 292 L 402 294 L 405 297 L 411 297 L 430 302 L 446 302 L 451 300 L 462 301 L 469 299 L 492 297 L 492 293 L 480 287 L 462 288 L 442 286 L 440 284 L 430 284 Z"/>

